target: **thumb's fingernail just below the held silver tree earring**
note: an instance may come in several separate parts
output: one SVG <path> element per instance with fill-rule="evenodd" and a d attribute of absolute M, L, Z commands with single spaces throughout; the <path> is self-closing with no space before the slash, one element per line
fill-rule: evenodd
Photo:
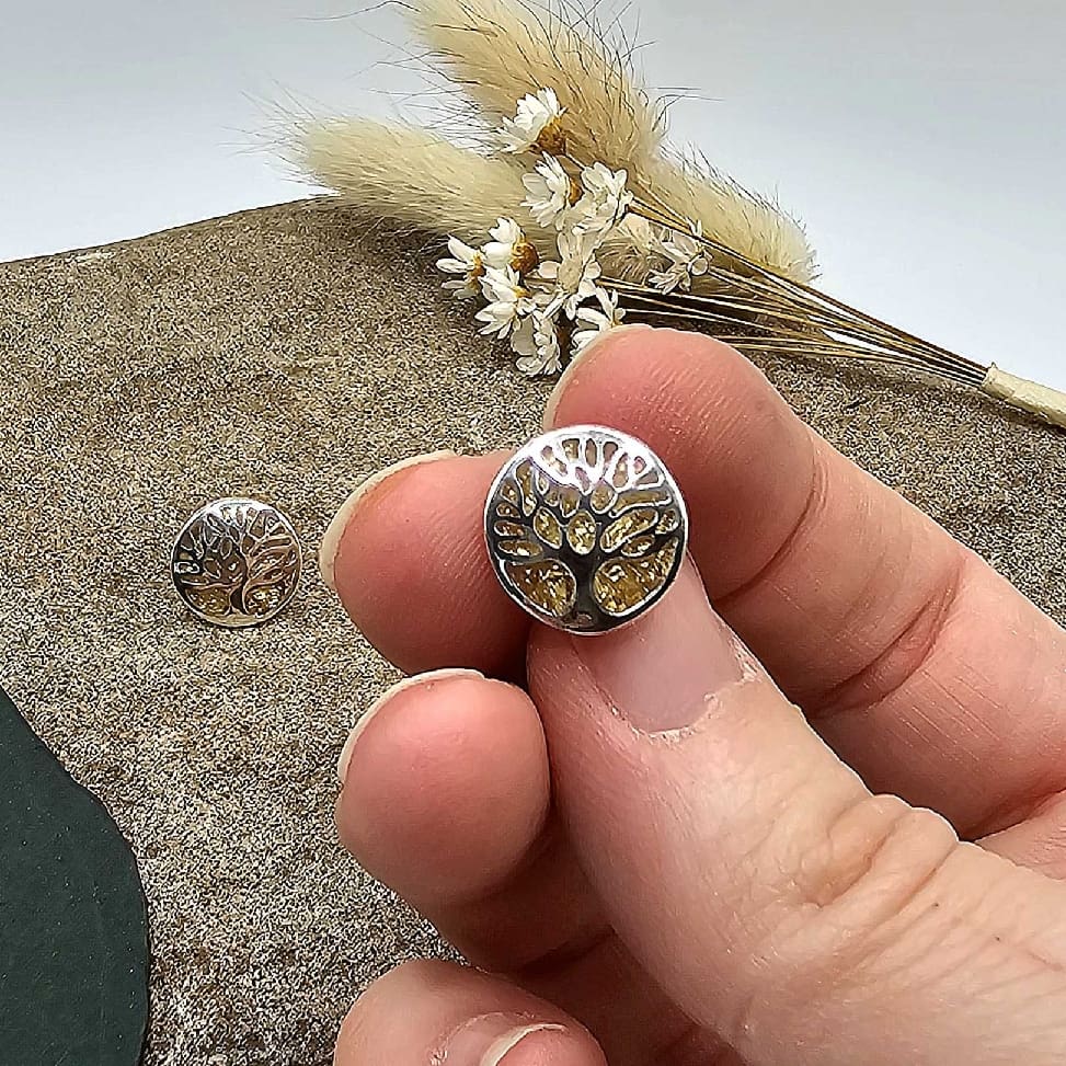
<path fill-rule="evenodd" d="M 746 652 L 708 603 L 691 559 L 662 603 L 631 626 L 573 640 L 616 713 L 643 733 L 694 725 L 747 673 Z"/>

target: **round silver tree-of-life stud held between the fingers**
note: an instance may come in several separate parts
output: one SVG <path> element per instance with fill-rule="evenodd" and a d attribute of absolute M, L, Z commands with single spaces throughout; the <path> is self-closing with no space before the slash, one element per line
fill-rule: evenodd
<path fill-rule="evenodd" d="M 485 503 L 500 583 L 555 629 L 595 635 L 662 599 L 685 559 L 688 515 L 669 471 L 635 437 L 553 429 L 500 471 Z"/>

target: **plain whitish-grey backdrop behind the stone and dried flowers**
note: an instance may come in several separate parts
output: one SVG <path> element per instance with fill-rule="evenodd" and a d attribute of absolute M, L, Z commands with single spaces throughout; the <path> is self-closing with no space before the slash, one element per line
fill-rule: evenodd
<path fill-rule="evenodd" d="M 343 4 L 5 0 L 0 260 L 302 195 L 268 144 L 284 107 L 388 115 L 388 92 L 422 88 L 389 65 L 397 10 Z M 649 82 L 700 93 L 676 138 L 806 220 L 824 287 L 1066 387 L 1062 0 L 635 0 L 638 16 Z"/>

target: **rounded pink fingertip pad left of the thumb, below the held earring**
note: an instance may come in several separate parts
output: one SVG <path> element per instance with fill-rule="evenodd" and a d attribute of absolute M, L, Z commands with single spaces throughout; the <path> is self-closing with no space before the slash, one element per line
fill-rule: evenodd
<path fill-rule="evenodd" d="M 550 784 L 528 696 L 470 672 L 413 678 L 351 745 L 342 843 L 424 907 L 503 881 L 543 828 Z"/>

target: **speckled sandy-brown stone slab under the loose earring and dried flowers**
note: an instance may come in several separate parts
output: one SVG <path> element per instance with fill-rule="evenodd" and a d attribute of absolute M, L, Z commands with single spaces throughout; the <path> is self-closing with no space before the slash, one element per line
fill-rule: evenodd
<path fill-rule="evenodd" d="M 325 1066 L 366 984 L 439 950 L 336 844 L 336 756 L 392 672 L 314 566 L 364 477 L 539 424 L 549 386 L 472 337 L 435 252 L 299 203 L 0 265 L 0 683 L 140 862 L 149 1066 Z M 895 375 L 763 366 L 1066 617 L 1066 434 Z M 309 565 L 282 619 L 227 632 L 167 563 L 192 511 L 243 494 L 293 518 Z"/>

